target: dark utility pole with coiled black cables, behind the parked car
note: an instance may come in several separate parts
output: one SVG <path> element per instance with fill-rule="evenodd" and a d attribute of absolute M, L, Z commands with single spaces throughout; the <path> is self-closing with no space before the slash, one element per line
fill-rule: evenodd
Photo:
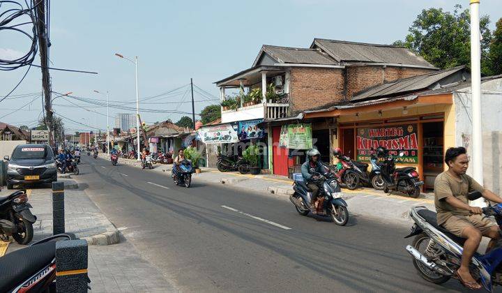
<path fill-rule="evenodd" d="M 37 5 L 40 3 L 40 5 Z M 48 29 L 45 24 L 47 24 L 47 17 L 45 16 L 45 0 L 33 0 L 33 6 L 36 6 L 36 30 L 38 36 L 38 50 L 40 52 L 40 68 L 42 70 L 42 87 L 45 100 L 45 124 L 47 125 L 47 130 L 49 131 L 49 145 L 54 147 L 54 137 L 53 137 L 53 127 L 52 127 L 52 106 L 51 106 L 51 86 L 50 86 L 50 75 L 48 61 L 49 61 L 49 47 L 47 45 L 47 33 Z"/>

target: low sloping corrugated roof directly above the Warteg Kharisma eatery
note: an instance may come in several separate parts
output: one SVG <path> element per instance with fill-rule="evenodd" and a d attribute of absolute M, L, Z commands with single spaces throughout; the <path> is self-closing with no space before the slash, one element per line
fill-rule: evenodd
<path fill-rule="evenodd" d="M 377 98 L 383 96 L 396 95 L 399 93 L 408 93 L 413 91 L 427 90 L 432 84 L 443 80 L 459 70 L 463 70 L 465 66 L 457 66 L 454 68 L 435 71 L 425 75 L 417 75 L 413 77 L 404 78 L 402 80 L 395 80 L 394 82 L 387 82 L 365 91 L 358 93 L 351 98 L 351 101 L 366 100 L 369 98 Z"/>

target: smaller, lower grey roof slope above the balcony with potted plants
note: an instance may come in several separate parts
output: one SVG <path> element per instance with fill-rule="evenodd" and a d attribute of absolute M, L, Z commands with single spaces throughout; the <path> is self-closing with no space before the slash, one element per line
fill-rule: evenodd
<path fill-rule="evenodd" d="M 264 45 L 261 50 L 275 59 L 277 63 L 337 65 L 337 62 L 328 54 L 315 49 Z"/>

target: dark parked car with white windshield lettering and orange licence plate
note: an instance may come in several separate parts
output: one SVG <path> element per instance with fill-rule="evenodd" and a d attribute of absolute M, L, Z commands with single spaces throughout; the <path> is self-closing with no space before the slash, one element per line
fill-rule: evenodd
<path fill-rule="evenodd" d="M 20 144 L 8 160 L 7 189 L 14 184 L 52 183 L 57 181 L 54 154 L 47 144 Z"/>

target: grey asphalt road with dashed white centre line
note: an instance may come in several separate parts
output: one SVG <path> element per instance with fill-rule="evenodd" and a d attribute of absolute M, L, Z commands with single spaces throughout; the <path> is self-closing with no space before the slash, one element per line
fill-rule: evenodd
<path fill-rule="evenodd" d="M 197 179 L 182 188 L 164 174 L 83 158 L 80 186 L 183 292 L 462 290 L 417 275 L 404 227 L 362 216 L 338 227 L 298 215 L 284 198 Z"/>

